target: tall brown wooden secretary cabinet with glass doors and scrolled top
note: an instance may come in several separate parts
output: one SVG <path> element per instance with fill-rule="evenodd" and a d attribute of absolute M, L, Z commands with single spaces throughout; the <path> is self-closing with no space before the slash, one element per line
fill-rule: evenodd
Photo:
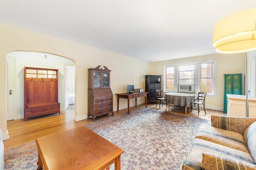
<path fill-rule="evenodd" d="M 110 71 L 106 66 L 88 68 L 88 119 L 113 111 L 113 93 L 110 88 Z"/>

